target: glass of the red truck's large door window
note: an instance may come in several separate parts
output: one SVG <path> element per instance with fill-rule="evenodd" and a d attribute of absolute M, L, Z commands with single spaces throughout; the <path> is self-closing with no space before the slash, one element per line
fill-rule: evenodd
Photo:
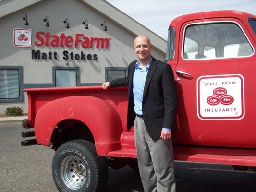
<path fill-rule="evenodd" d="M 253 48 L 235 22 L 189 24 L 185 27 L 183 59 L 248 57 Z M 187 55 L 187 58 L 184 57 Z"/>

